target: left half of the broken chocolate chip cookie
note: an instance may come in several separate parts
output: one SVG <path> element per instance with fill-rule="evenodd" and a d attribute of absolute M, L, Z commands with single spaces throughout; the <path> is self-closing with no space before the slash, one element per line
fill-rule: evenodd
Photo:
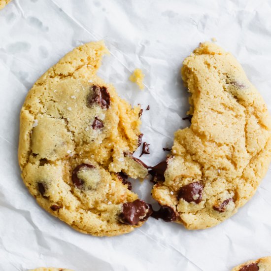
<path fill-rule="evenodd" d="M 36 81 L 20 115 L 25 185 L 45 210 L 95 236 L 129 233 L 151 212 L 127 181 L 148 173 L 133 157 L 140 107 L 96 75 L 106 53 L 103 42 L 68 53 Z"/>

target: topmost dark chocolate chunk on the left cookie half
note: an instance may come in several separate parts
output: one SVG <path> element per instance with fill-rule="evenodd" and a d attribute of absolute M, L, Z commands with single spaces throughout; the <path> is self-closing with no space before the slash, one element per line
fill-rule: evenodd
<path fill-rule="evenodd" d="M 91 107 L 91 105 L 95 102 L 98 103 L 103 109 L 109 108 L 110 94 L 107 91 L 107 88 L 93 85 L 91 89 L 93 93 L 87 97 L 87 106 Z"/>

